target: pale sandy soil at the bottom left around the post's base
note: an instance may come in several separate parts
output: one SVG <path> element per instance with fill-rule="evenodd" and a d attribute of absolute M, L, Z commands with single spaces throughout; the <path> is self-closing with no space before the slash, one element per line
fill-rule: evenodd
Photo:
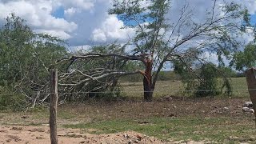
<path fill-rule="evenodd" d="M 0 126 L 0 143 L 50 143 L 48 126 Z M 117 134 L 85 134 L 78 129 L 58 129 L 58 143 L 166 143 L 134 131 Z"/>

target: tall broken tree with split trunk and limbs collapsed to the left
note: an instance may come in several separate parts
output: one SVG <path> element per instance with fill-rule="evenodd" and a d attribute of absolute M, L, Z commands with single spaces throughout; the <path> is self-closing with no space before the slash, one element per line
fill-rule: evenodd
<path fill-rule="evenodd" d="M 246 31 L 248 13 L 234 2 L 218 5 L 213 1 L 212 9 L 206 11 L 206 18 L 195 22 L 192 10 L 188 4 L 182 7 L 178 21 L 172 23 L 167 18 L 170 11 L 170 0 L 139 1 L 114 0 L 110 14 L 117 14 L 119 19 L 126 23 L 125 28 L 136 30 L 134 38 L 125 46 L 132 46 L 130 53 L 86 53 L 66 58 L 70 62 L 78 59 L 114 58 L 115 62 L 138 61 L 144 65 L 144 70 L 127 72 L 124 70 L 104 70 L 101 77 L 85 74 L 85 79 L 99 79 L 113 74 L 142 74 L 144 99 L 151 101 L 158 75 L 170 62 L 172 66 L 179 63 L 190 72 L 190 75 L 202 81 L 200 75 L 194 73 L 198 63 L 205 63 L 202 54 L 206 51 L 218 54 L 221 64 L 222 56 L 230 56 L 238 50 L 242 43 L 235 37 Z M 242 20 L 245 22 L 242 22 Z M 124 46 L 119 46 L 123 49 Z M 118 67 L 116 67 L 118 68 Z M 101 74 L 102 71 L 98 71 Z M 108 73 L 108 74 L 106 74 Z M 80 82 L 85 82 L 84 80 Z M 77 82 L 77 83 L 80 83 Z M 87 81 L 86 81 L 87 82 Z M 77 85 L 77 84 L 73 84 Z M 71 86 L 69 84 L 69 86 Z"/>

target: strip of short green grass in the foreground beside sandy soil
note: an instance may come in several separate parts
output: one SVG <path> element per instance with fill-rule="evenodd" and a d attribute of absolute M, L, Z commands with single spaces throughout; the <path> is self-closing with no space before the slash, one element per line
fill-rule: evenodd
<path fill-rule="evenodd" d="M 231 118 L 147 118 L 115 120 L 65 125 L 69 128 L 94 129 L 93 134 L 109 134 L 134 130 L 157 138 L 175 141 L 250 142 L 255 141 L 255 129 L 249 119 Z M 244 120 L 243 120 L 244 121 Z M 145 123 L 143 123 L 145 122 Z M 88 131 L 87 131 L 88 132 Z"/>

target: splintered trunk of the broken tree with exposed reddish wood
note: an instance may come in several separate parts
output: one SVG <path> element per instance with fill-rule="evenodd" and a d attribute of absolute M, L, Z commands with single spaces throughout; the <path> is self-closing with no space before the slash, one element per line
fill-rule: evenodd
<path fill-rule="evenodd" d="M 143 78 L 143 87 L 144 87 L 144 100 L 146 102 L 150 102 L 153 99 L 153 90 L 154 86 L 152 86 L 152 60 L 147 59 L 146 60 L 146 69 L 145 74 Z"/>

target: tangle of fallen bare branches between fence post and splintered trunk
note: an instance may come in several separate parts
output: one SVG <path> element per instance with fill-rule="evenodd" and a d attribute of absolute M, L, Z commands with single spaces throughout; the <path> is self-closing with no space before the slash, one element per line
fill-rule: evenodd
<path fill-rule="evenodd" d="M 118 78 L 127 74 L 139 74 L 138 70 L 127 71 L 124 47 L 118 44 L 93 46 L 89 52 L 78 51 L 71 58 L 62 58 L 55 66 L 66 67 L 60 71 L 59 88 L 66 98 L 84 100 L 90 97 L 118 96 Z"/>

